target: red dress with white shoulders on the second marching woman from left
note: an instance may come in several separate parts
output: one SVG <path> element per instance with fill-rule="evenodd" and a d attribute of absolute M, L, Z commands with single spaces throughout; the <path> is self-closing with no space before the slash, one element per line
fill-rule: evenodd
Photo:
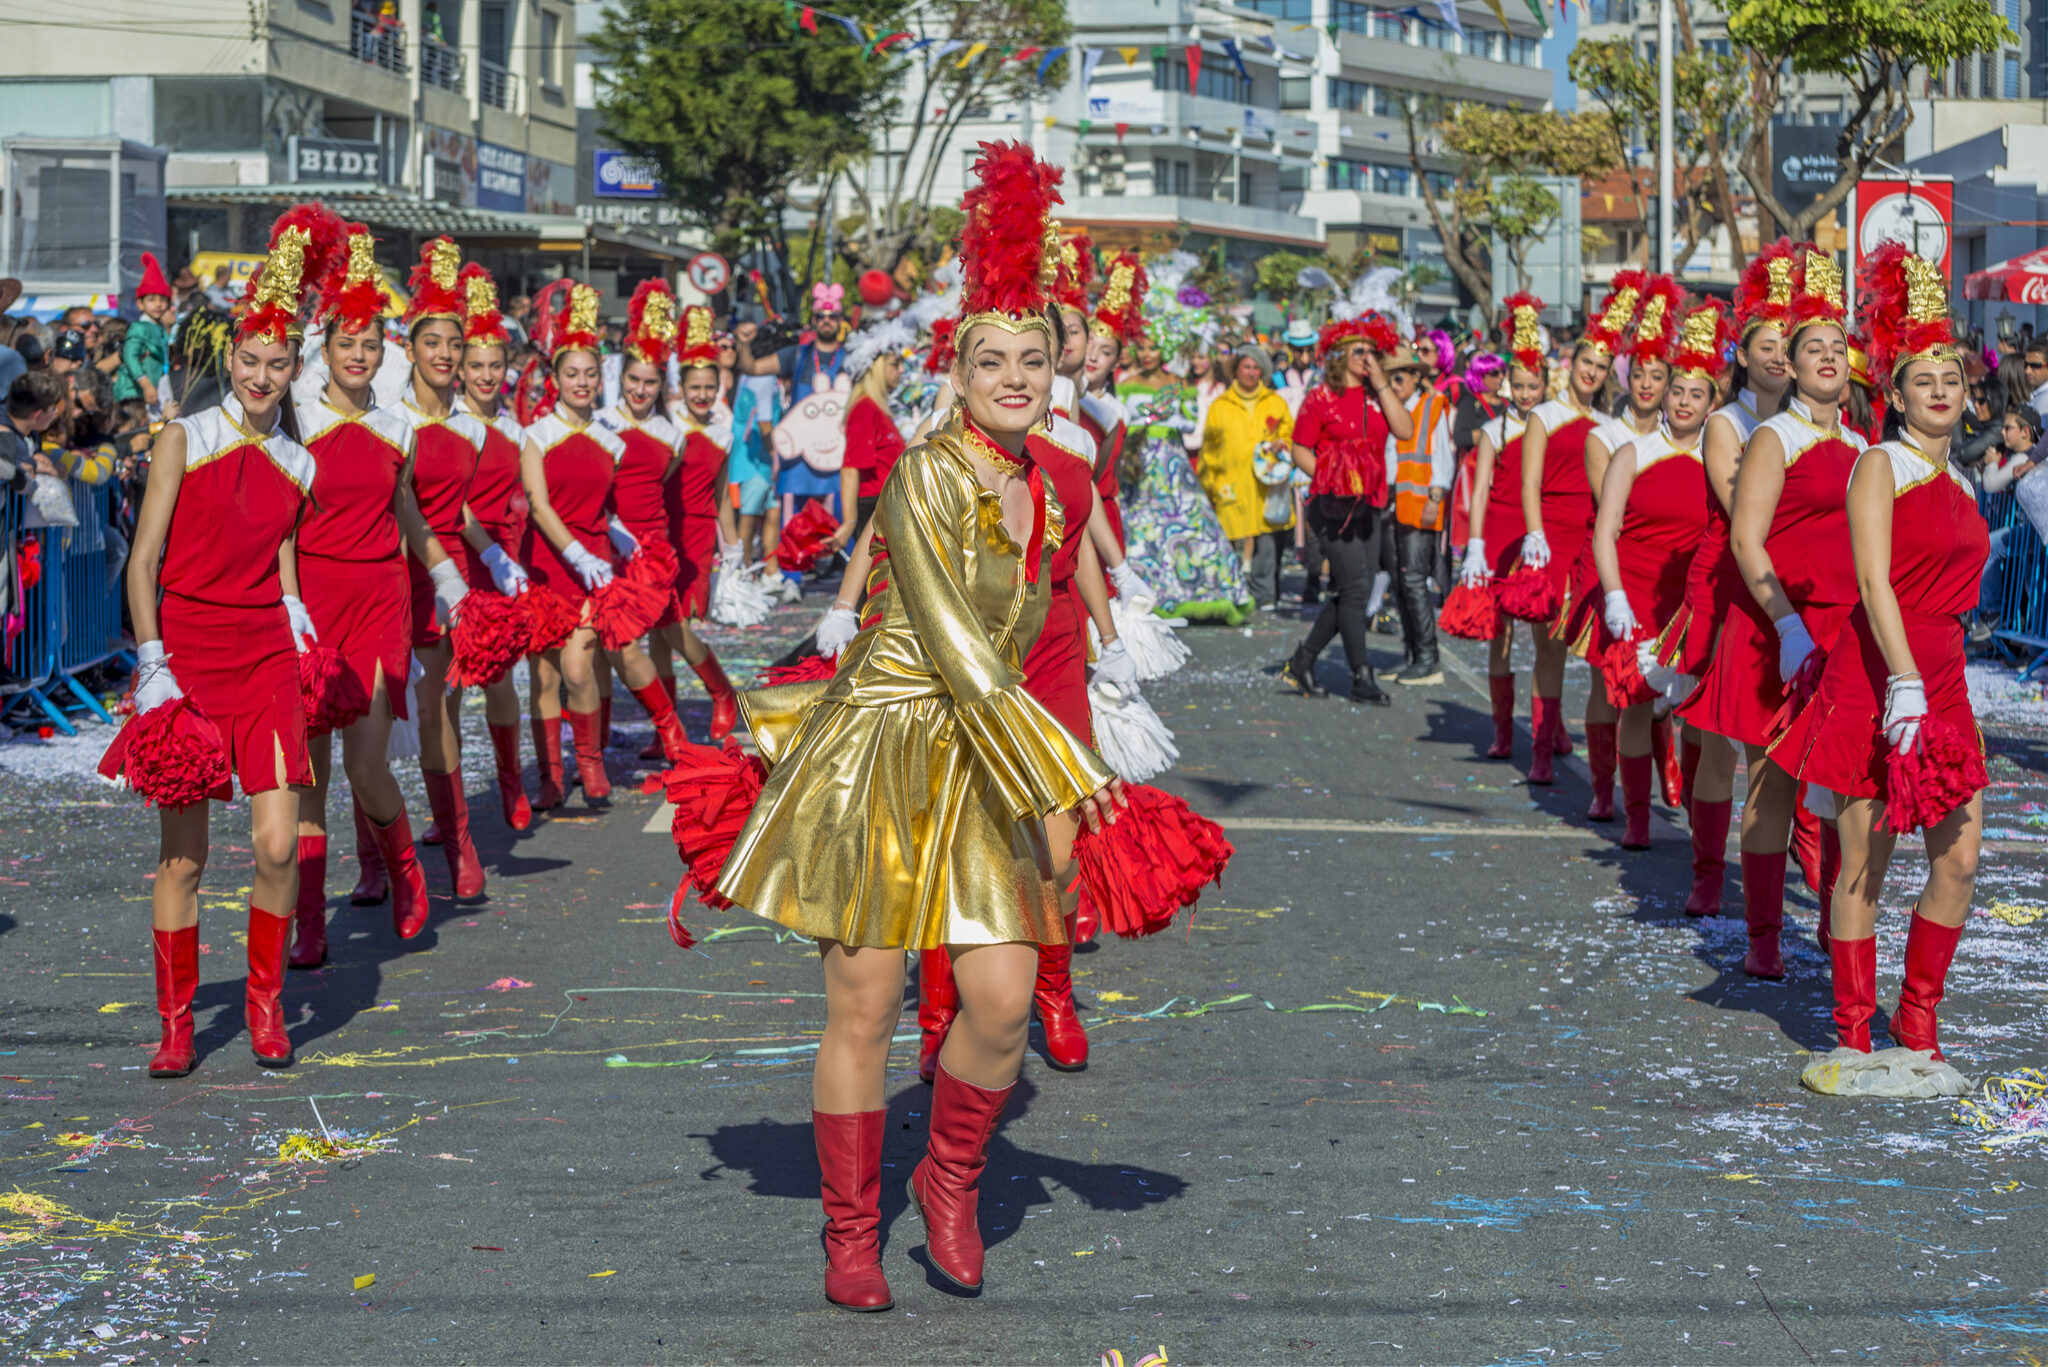
<path fill-rule="evenodd" d="M 319 644 L 375 693 L 383 674 L 393 717 L 412 711 L 412 586 L 399 545 L 397 482 L 412 430 L 383 408 L 342 416 L 326 404 L 299 410 L 313 453 L 313 492 L 299 529 L 299 596 Z"/>

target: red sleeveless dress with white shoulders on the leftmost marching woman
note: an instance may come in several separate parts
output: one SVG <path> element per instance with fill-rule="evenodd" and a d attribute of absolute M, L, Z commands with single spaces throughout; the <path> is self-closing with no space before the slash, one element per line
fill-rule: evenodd
<path fill-rule="evenodd" d="M 285 617 L 276 551 L 305 516 L 313 457 L 287 437 L 252 432 L 233 393 L 176 422 L 184 428 L 184 480 L 158 576 L 170 672 L 221 730 L 244 793 L 279 785 L 281 750 L 285 783 L 307 785 L 313 764 L 299 703 L 299 650 Z M 305 592 L 303 557 L 299 578 Z M 119 773 L 119 760 L 117 742 L 100 773 Z M 231 799 L 231 785 L 221 783 L 209 797 Z"/>

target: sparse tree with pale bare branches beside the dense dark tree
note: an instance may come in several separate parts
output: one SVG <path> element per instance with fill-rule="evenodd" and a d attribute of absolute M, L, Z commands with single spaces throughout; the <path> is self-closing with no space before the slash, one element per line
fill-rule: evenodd
<path fill-rule="evenodd" d="M 948 164 L 961 121 L 989 105 L 1028 100 L 1040 84 L 1057 90 L 1071 70 L 1067 55 L 1044 61 L 1071 35 L 1065 0 L 934 0 L 905 29 L 930 41 L 903 68 L 905 117 L 897 129 L 881 131 L 866 154 L 866 174 L 850 176 L 860 215 L 846 238 L 848 260 L 889 273 L 905 256 L 930 256 L 940 244 L 932 184 Z M 983 49 L 975 53 L 975 45 Z"/>

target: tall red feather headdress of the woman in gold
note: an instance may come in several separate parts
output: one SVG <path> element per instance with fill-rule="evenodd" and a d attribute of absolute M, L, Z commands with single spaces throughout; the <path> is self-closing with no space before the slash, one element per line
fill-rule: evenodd
<path fill-rule="evenodd" d="M 965 289 L 961 328 L 995 324 L 1008 332 L 1044 328 L 1059 277 L 1059 168 L 1047 166 L 1024 143 L 981 143 L 977 182 L 961 197 Z"/>

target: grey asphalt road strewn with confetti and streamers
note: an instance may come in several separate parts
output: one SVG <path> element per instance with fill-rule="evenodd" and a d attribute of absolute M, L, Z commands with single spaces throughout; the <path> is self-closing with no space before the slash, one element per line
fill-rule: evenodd
<path fill-rule="evenodd" d="M 733 672 L 815 609 L 727 633 Z M 436 898 L 410 945 L 385 908 L 346 906 L 338 857 L 334 959 L 289 978 L 283 1074 L 242 1031 L 246 807 L 217 807 L 203 1062 L 152 1082 L 156 820 L 90 779 L 0 764 L 4 1355 L 2036 1361 L 2038 1117 L 1987 1135 L 1952 1103 L 1802 1092 L 1804 1051 L 1831 1037 L 1804 889 L 1790 978 L 1747 982 L 1733 871 L 1724 918 L 1679 914 L 1677 818 L 1659 807 L 1657 846 L 1624 855 L 1618 826 L 1581 820 L 1581 760 L 1532 791 L 1526 732 L 1518 764 L 1479 758 L 1475 652 L 1444 687 L 1362 709 L 1278 689 L 1298 631 L 1192 631 L 1196 660 L 1149 689 L 1186 758 L 1163 785 L 1225 822 L 1237 859 L 1192 922 L 1075 959 L 1094 1062 L 1053 1072 L 1034 1031 L 983 1185 L 975 1299 L 926 1271 L 905 1209 L 930 1096 L 905 1000 L 881 1316 L 821 1293 L 815 953 L 702 908 L 700 953 L 674 949 L 657 797 L 623 781 L 608 812 L 578 801 L 512 840 L 473 769 L 492 896 Z M 1585 682 L 1575 668 L 1571 717 Z M 1995 844 L 1944 1006 L 1972 1078 L 2042 1062 L 2048 992 L 2048 728 L 2001 689 Z M 686 717 L 700 734 L 700 699 Z M 643 740 L 623 699 L 616 777 Z M 1886 896 L 1880 1002 L 1921 877 L 1915 848 Z"/>

